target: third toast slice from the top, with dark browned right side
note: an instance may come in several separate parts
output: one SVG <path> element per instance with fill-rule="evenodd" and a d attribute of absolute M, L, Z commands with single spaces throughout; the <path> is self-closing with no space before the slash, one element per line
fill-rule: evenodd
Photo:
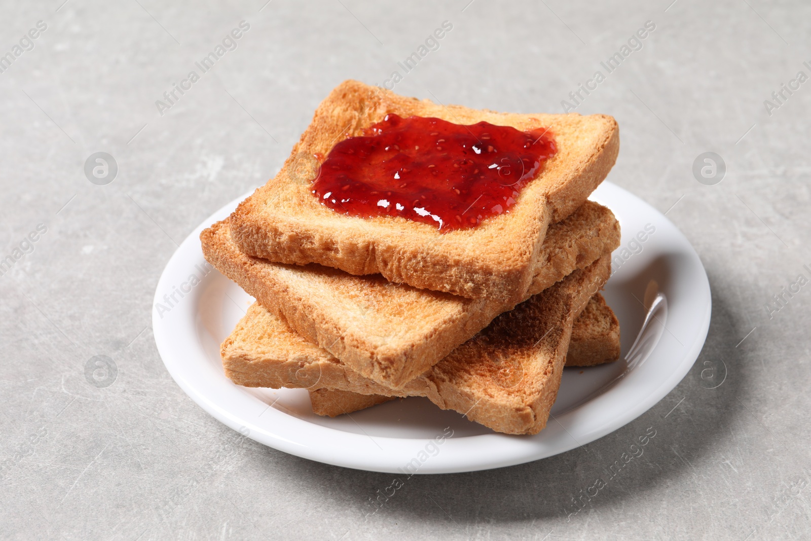
<path fill-rule="evenodd" d="M 222 343 L 225 375 L 247 387 L 428 397 L 496 432 L 535 434 L 555 401 L 574 320 L 610 273 L 603 255 L 504 312 L 400 389 L 364 378 L 254 303 Z"/>

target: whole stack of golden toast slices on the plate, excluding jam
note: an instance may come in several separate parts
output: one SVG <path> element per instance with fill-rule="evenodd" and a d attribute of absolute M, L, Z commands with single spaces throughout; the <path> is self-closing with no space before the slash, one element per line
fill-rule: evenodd
<path fill-rule="evenodd" d="M 388 114 L 543 128 L 556 152 L 508 212 L 474 227 L 321 204 L 311 187 L 324 157 Z M 538 433 L 564 366 L 619 358 L 599 290 L 620 226 L 587 200 L 618 150 L 605 115 L 501 114 L 339 85 L 279 174 L 200 235 L 206 259 L 256 299 L 221 346 L 225 375 L 308 389 L 316 414 L 419 396 L 496 432 Z"/>

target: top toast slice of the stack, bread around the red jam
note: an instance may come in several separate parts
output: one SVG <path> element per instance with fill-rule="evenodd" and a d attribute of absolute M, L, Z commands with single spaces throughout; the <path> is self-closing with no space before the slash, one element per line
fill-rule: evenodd
<path fill-rule="evenodd" d="M 333 146 L 386 114 L 490 122 L 521 131 L 548 128 L 557 152 L 517 196 L 508 213 L 480 225 L 440 233 L 403 217 L 350 217 L 311 193 L 317 164 Z M 550 223 L 569 217 L 616 161 L 614 118 L 594 114 L 504 114 L 401 97 L 345 81 L 321 102 L 279 174 L 231 215 L 231 234 L 249 255 L 286 264 L 318 263 L 347 273 L 467 298 L 518 303 L 532 280 L 534 256 Z"/>

